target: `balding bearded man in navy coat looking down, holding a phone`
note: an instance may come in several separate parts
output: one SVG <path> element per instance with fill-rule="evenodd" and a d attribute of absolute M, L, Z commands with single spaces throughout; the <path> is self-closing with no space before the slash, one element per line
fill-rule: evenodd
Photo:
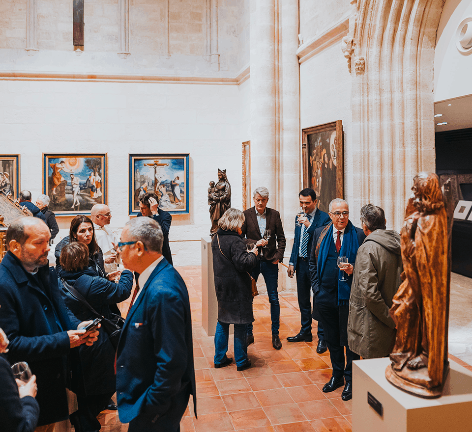
<path fill-rule="evenodd" d="M 39 426 L 68 418 L 67 356 L 98 336 L 98 331 L 86 333 L 82 327 L 90 321 L 81 323 L 62 301 L 56 270 L 48 266 L 50 237 L 38 218 L 13 222 L 5 236 L 9 251 L 0 263 L 0 327 L 10 340 L 7 358 L 28 362 L 36 375 Z"/>

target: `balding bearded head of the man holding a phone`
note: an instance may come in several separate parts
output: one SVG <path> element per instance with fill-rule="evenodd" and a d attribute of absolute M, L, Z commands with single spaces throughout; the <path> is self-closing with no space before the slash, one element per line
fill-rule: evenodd
<path fill-rule="evenodd" d="M 51 231 L 37 217 L 23 217 L 13 222 L 5 236 L 8 250 L 22 263 L 25 270 L 34 273 L 48 263 Z"/>

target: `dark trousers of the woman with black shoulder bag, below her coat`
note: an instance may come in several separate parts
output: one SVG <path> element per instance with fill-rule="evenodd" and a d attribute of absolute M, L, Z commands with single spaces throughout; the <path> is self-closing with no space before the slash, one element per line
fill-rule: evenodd
<path fill-rule="evenodd" d="M 97 416 L 107 407 L 112 396 L 112 392 L 103 395 L 77 395 L 78 409 L 70 415 L 70 423 L 76 432 L 100 431 L 101 426 Z"/>

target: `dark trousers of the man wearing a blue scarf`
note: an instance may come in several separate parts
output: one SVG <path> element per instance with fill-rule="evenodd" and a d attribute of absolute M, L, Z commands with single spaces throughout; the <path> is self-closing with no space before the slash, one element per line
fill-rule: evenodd
<path fill-rule="evenodd" d="M 353 380 L 353 360 L 359 360 L 360 356 L 349 349 L 345 340 L 349 306 L 338 306 L 337 294 L 335 297 L 319 291 L 315 296 L 315 301 L 323 323 L 324 340 L 333 366 L 333 377 L 344 376 L 346 382 L 350 382 Z M 342 308 L 347 308 L 347 310 L 342 310 Z M 346 347 L 346 363 L 344 362 L 344 347 Z"/>

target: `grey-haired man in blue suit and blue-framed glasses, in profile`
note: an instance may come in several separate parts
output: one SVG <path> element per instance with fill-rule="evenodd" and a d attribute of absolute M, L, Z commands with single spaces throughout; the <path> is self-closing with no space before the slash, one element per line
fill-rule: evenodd
<path fill-rule="evenodd" d="M 178 432 L 193 395 L 192 320 L 184 281 L 162 255 L 163 234 L 150 217 L 126 223 L 123 265 L 140 273 L 117 351 L 119 419 L 129 432 Z"/>

